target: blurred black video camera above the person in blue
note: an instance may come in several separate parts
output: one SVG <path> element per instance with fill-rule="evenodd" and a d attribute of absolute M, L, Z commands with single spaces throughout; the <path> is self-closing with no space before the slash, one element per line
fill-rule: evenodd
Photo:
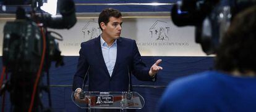
<path fill-rule="evenodd" d="M 215 54 L 233 17 L 256 0 L 182 0 L 171 10 L 177 26 L 195 26 L 195 42 L 207 55 Z"/>

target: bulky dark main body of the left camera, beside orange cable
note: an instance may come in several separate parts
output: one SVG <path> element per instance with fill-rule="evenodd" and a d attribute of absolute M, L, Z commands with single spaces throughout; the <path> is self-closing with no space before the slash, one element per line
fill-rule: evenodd
<path fill-rule="evenodd" d="M 4 26 L 2 60 L 9 71 L 36 73 L 42 49 L 43 40 L 35 22 L 15 20 Z"/>

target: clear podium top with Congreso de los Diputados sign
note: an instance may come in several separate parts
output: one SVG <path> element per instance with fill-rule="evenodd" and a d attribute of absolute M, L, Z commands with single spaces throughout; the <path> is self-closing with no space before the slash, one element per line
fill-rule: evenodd
<path fill-rule="evenodd" d="M 142 109 L 145 100 L 137 92 L 83 92 L 82 98 L 75 99 L 75 92 L 72 92 L 71 98 L 75 105 L 80 108 L 101 109 Z M 83 96 L 84 95 L 84 96 Z"/>

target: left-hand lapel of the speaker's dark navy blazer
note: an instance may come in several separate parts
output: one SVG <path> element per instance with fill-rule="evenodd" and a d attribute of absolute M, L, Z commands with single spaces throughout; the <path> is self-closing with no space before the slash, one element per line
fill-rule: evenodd
<path fill-rule="evenodd" d="M 108 73 L 108 68 L 106 67 L 106 63 L 105 60 L 103 58 L 103 54 L 102 54 L 102 50 L 101 50 L 101 43 L 100 43 L 100 36 L 98 36 L 98 38 L 95 41 L 95 54 L 98 57 L 98 62 L 100 63 L 101 67 L 104 68 L 106 75 L 108 75 L 108 77 L 110 78 L 110 75 Z M 118 48 L 118 47 L 117 47 Z M 100 66 L 99 66 L 100 68 Z"/>

